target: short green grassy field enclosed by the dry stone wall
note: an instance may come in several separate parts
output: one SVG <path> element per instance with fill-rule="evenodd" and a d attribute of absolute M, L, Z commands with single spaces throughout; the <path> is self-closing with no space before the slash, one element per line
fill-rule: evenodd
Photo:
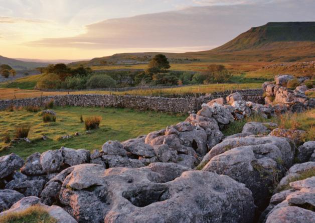
<path fill-rule="evenodd" d="M 187 114 L 168 114 L 152 111 L 134 111 L 123 108 L 96 108 L 96 107 L 56 107 L 56 122 L 43 122 L 39 113 L 25 110 L 0 111 L 0 136 L 8 130 L 11 138 L 14 136 L 15 126 L 31 124 L 29 138 L 32 143 L 21 142 L 14 148 L 0 152 L 0 156 L 15 152 L 22 157 L 27 157 L 34 152 L 43 152 L 48 149 L 58 149 L 61 146 L 70 148 L 100 149 L 107 140 L 126 140 L 148 132 L 159 130 L 167 125 L 176 124 L 185 120 Z M 102 117 L 100 128 L 91 134 L 85 134 L 84 123 L 80 122 L 89 115 Z M 82 135 L 70 139 L 58 140 L 65 134 L 80 132 Z M 50 139 L 42 140 L 42 135 Z M 5 145 L 0 142 L 0 147 Z"/>

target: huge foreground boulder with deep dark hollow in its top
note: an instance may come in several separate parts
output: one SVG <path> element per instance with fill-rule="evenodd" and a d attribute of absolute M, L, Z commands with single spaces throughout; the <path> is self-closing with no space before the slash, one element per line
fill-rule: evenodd
<path fill-rule="evenodd" d="M 48 185 L 62 184 L 55 199 L 79 222 L 253 220 L 250 190 L 225 175 L 159 162 L 137 169 L 104 169 L 97 164 L 68 169 Z"/>

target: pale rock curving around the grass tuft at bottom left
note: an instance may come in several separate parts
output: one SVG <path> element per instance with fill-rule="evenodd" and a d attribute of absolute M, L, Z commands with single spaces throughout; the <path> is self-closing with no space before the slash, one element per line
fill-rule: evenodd
<path fill-rule="evenodd" d="M 13 204 L 9 210 L 6 210 L 0 213 L 0 216 L 6 215 L 12 212 L 23 211 L 33 205 L 39 205 L 43 207 L 44 210 L 46 210 L 51 217 L 55 218 L 58 223 L 77 223 L 77 221 L 60 206 L 56 206 L 56 205 L 47 206 L 41 203 L 40 199 L 36 196 L 29 196 L 29 197 L 22 198 L 21 200 Z"/>

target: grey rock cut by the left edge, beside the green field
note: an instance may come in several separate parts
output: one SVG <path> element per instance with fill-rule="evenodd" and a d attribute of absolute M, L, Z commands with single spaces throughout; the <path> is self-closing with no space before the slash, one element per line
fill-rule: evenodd
<path fill-rule="evenodd" d="M 9 176 L 15 170 L 21 168 L 24 164 L 24 160 L 16 155 L 11 153 L 9 155 L 0 157 L 0 179 Z"/>

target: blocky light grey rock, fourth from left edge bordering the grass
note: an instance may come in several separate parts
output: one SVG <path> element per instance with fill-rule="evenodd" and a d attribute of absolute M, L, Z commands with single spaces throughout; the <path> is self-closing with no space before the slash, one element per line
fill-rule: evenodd
<path fill-rule="evenodd" d="M 86 163 L 90 158 L 90 152 L 86 149 L 73 149 L 62 146 L 60 150 L 63 156 L 63 163 L 70 166 Z"/>

